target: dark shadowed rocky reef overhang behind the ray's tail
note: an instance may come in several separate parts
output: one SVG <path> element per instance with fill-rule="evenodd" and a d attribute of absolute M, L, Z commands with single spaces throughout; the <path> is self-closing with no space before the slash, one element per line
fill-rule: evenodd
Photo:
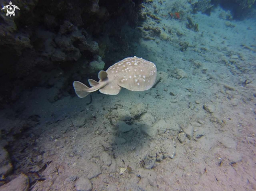
<path fill-rule="evenodd" d="M 15 2 L 20 7 L 15 17 L 6 17 L 4 11 L 0 14 L 0 79 L 6 81 L 0 90 L 0 105 L 15 102 L 24 89 L 54 86 L 52 78 L 64 86 L 81 70 L 82 75 L 92 74 L 89 63 L 98 62 L 99 57 L 107 67 L 124 53 L 133 55 L 124 26 L 132 29 L 138 24 L 141 2 Z M 138 33 L 132 39 L 137 38 Z"/>

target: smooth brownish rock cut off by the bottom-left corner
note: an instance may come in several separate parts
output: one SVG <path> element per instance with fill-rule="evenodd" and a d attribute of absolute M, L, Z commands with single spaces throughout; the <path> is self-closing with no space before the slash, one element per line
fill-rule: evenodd
<path fill-rule="evenodd" d="M 24 191 L 29 189 L 29 179 L 25 174 L 0 187 L 0 191 Z"/>

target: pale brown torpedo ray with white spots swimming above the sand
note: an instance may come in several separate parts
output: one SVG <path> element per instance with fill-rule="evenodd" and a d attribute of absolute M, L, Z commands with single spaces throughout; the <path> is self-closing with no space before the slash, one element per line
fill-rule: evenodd
<path fill-rule="evenodd" d="M 99 71 L 98 78 L 98 82 L 88 79 L 92 88 L 74 81 L 73 86 L 77 96 L 84 98 L 97 90 L 109 95 L 117 95 L 121 88 L 131 91 L 148 90 L 152 88 L 157 78 L 157 67 L 143 58 L 128 57 L 110 66 L 106 71 Z"/>

